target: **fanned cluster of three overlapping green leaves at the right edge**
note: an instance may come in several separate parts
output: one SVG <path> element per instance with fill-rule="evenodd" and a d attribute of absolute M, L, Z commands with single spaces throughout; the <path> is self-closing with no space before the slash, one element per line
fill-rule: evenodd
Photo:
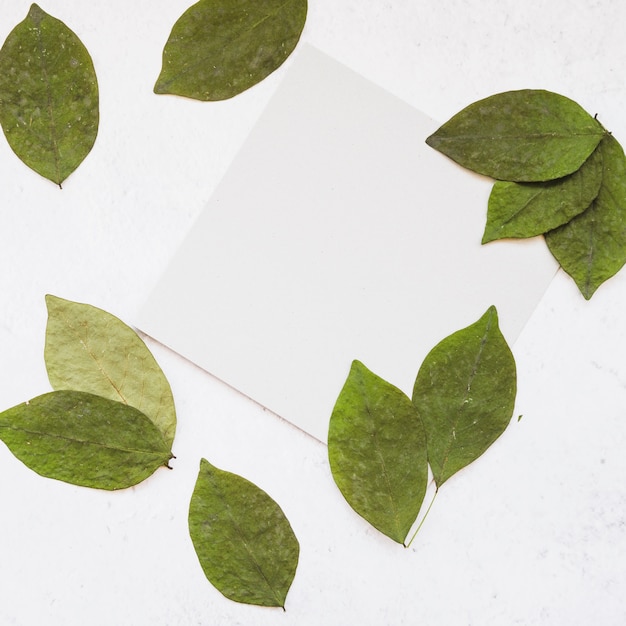
<path fill-rule="evenodd" d="M 587 299 L 626 262 L 626 158 L 578 104 L 541 90 L 480 100 L 426 142 L 498 179 L 482 243 L 545 235 Z"/>

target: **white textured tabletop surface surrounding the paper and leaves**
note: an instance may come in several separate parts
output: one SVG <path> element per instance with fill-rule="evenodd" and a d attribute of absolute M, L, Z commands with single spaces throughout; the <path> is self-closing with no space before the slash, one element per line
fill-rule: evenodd
<path fill-rule="evenodd" d="M 289 63 L 225 102 L 154 95 L 188 6 L 42 5 L 92 54 L 101 126 L 62 191 L 0 140 L 2 409 L 50 389 L 46 293 L 133 323 Z M 0 0 L 0 39 L 28 8 Z M 302 39 L 441 121 L 545 88 L 626 144 L 625 27 L 618 0 L 318 0 Z M 522 420 L 445 485 L 409 550 L 345 504 L 324 446 L 151 342 L 178 409 L 173 471 L 91 491 L 40 478 L 0 445 L 0 624 L 622 625 L 625 310 L 626 271 L 591 302 L 557 276 L 514 346 Z M 186 527 L 203 456 L 289 517 L 301 559 L 285 613 L 230 602 L 204 578 Z"/>

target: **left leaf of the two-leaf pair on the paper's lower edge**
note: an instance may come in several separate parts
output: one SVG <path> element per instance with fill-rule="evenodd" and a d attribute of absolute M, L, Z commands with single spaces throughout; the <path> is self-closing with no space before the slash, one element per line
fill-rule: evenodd
<path fill-rule="evenodd" d="M 348 504 L 403 543 L 426 493 L 424 427 L 411 400 L 359 361 L 330 418 L 328 457 Z"/>

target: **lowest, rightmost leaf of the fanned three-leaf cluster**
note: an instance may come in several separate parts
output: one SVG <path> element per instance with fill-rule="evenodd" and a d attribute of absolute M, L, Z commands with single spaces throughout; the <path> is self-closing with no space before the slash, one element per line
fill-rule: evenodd
<path fill-rule="evenodd" d="M 626 262 L 626 157 L 607 135 L 600 144 L 602 184 L 591 206 L 546 233 L 550 252 L 589 300 Z"/>

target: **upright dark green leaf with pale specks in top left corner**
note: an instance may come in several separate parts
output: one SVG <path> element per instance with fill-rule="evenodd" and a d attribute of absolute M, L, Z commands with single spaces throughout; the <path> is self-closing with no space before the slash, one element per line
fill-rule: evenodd
<path fill-rule="evenodd" d="M 98 133 L 98 83 L 80 39 L 36 4 L 0 50 L 0 124 L 17 156 L 60 185 Z"/>

